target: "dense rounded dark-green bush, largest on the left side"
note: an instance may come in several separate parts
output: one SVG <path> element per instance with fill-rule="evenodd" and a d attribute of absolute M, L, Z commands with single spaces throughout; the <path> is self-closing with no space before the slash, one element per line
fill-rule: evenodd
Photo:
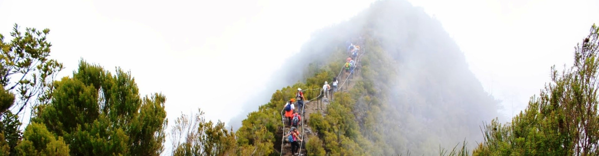
<path fill-rule="evenodd" d="M 140 98 L 130 73 L 115 76 L 80 62 L 55 83 L 52 103 L 37 107 L 34 122 L 64 137 L 71 155 L 159 155 L 167 125 L 162 94 Z"/>

